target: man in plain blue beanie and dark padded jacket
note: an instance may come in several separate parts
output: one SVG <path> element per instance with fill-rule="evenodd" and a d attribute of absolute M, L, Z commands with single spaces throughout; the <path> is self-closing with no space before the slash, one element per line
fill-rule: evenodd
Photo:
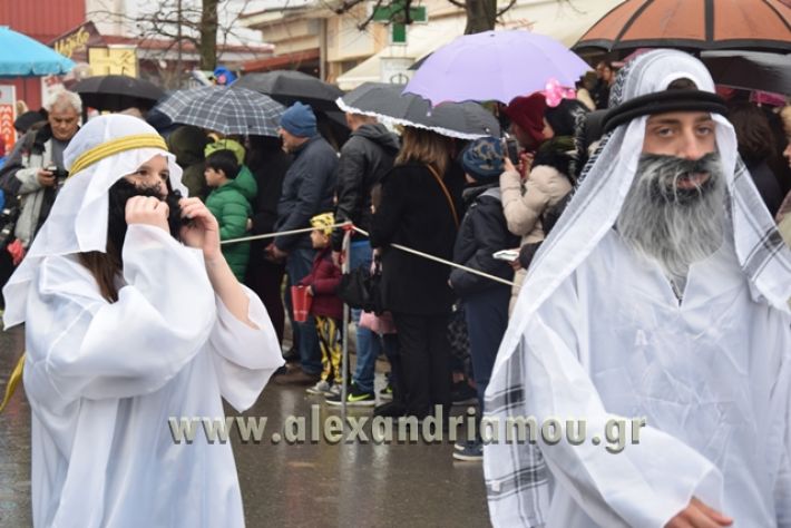
<path fill-rule="evenodd" d="M 283 146 L 294 156 L 277 204 L 275 231 L 283 233 L 310 227 L 313 216 L 332 211 L 338 155 L 319 135 L 315 115 L 307 105 L 294 102 L 281 117 L 279 131 Z M 273 261 L 285 260 L 291 284 L 297 284 L 310 273 L 315 253 L 310 234 L 280 235 L 266 251 Z M 315 322 L 309 316 L 304 323 L 294 322 L 293 326 L 299 338 L 302 370 L 280 375 L 276 382 L 315 383 L 321 373 Z"/>

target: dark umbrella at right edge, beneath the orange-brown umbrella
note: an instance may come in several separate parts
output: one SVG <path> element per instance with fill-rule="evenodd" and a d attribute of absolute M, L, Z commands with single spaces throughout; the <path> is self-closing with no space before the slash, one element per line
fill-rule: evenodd
<path fill-rule="evenodd" d="M 791 55 L 703 51 L 701 60 L 717 85 L 791 95 Z"/>

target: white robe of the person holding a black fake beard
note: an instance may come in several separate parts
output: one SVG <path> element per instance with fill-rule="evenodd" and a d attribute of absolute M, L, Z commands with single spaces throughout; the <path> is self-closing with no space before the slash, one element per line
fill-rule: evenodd
<path fill-rule="evenodd" d="M 242 411 L 280 364 L 258 297 L 254 330 L 228 312 L 203 256 L 131 225 L 116 303 L 77 257 L 48 256 L 31 285 L 25 389 L 36 526 L 241 527 L 230 443 L 175 443 L 168 419 Z"/>

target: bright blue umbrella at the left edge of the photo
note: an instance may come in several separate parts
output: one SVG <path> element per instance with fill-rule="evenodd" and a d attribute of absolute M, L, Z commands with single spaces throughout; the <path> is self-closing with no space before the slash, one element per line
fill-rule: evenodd
<path fill-rule="evenodd" d="M 0 26 L 0 77 L 62 75 L 75 62 L 27 35 Z"/>

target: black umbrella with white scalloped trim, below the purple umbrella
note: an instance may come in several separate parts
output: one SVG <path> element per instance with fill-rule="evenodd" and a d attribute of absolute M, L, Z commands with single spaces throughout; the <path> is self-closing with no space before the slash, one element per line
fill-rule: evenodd
<path fill-rule="evenodd" d="M 477 102 L 443 102 L 431 108 L 427 99 L 402 91 L 403 85 L 364 82 L 339 97 L 336 102 L 345 111 L 388 119 L 396 125 L 426 128 L 460 139 L 500 135 L 497 118 Z"/>

